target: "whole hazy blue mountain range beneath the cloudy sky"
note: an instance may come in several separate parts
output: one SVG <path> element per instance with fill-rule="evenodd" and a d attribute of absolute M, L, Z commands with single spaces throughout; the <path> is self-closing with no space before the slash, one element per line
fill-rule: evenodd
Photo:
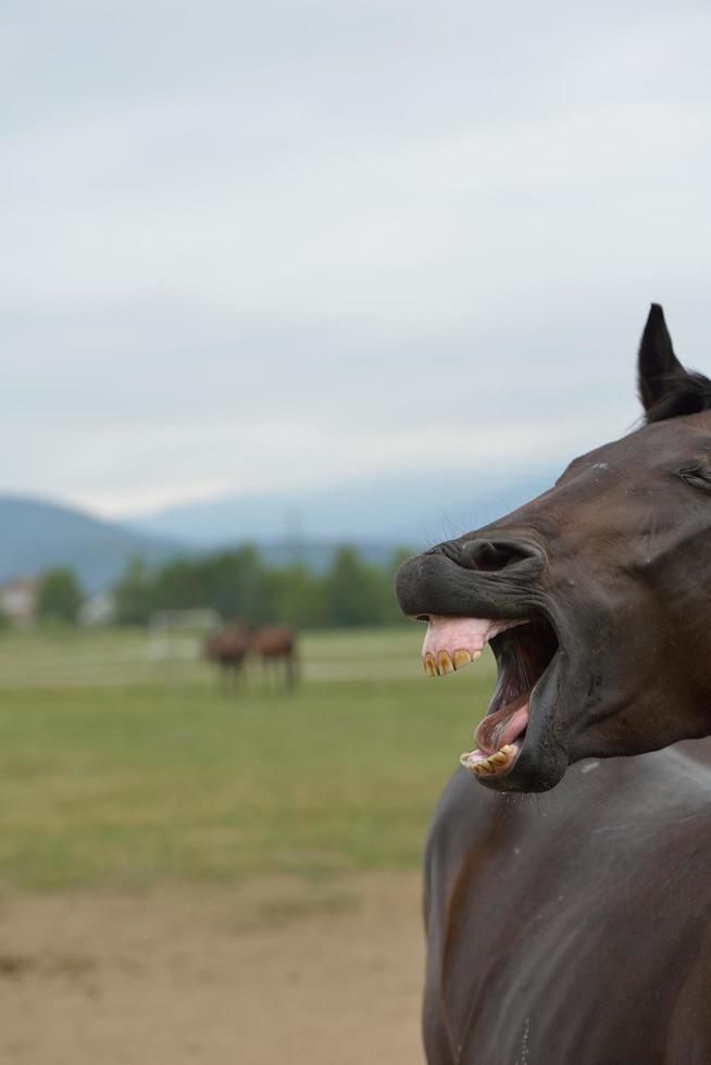
<path fill-rule="evenodd" d="M 325 568 L 340 544 L 375 563 L 396 547 L 423 546 L 478 528 L 550 487 L 552 478 L 482 477 L 457 471 L 372 478 L 291 492 L 245 492 L 122 524 L 73 508 L 0 496 L 0 582 L 68 566 L 87 591 L 108 588 L 129 559 L 255 543 L 271 565 Z"/>

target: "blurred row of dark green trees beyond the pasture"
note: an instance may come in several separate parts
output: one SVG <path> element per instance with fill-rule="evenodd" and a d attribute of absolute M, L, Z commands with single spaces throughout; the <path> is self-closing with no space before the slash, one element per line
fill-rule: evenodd
<path fill-rule="evenodd" d="M 176 559 L 151 569 L 134 559 L 113 587 L 114 621 L 145 625 L 163 610 L 210 607 L 224 621 L 283 622 L 297 628 L 389 625 L 401 621 L 392 578 L 409 552 L 378 566 L 344 547 L 323 573 L 303 564 L 269 566 L 253 547 Z M 46 573 L 38 614 L 76 621 L 84 597 L 66 569 Z"/>

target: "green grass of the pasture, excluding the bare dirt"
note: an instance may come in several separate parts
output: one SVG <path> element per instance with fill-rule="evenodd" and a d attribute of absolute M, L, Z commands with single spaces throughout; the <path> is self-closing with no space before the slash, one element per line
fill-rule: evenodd
<path fill-rule="evenodd" d="M 145 634 L 3 636 L 0 882 L 415 866 L 492 685 L 427 680 L 422 635 L 310 635 L 298 691 L 237 697 Z"/>

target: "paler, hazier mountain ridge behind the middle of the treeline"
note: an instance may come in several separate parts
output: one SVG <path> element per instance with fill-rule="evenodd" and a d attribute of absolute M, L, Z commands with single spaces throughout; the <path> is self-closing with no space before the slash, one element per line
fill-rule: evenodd
<path fill-rule="evenodd" d="M 199 548 L 350 542 L 417 548 L 477 528 L 549 488 L 552 477 L 429 471 L 292 492 L 244 492 L 132 519 L 134 531 Z"/>

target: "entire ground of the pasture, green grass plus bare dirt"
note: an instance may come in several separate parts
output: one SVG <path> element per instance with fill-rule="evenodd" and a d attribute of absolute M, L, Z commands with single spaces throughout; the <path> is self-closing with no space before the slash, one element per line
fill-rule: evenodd
<path fill-rule="evenodd" d="M 492 685 L 423 632 L 237 696 L 187 639 L 2 635 L 0 1061 L 423 1061 L 422 842 Z"/>

